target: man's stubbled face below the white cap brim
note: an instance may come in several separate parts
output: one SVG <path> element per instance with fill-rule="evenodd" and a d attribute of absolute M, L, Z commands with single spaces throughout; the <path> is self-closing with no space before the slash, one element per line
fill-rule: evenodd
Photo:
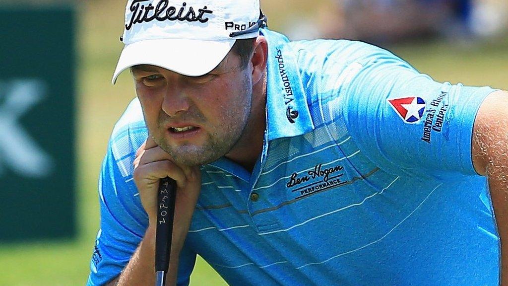
<path fill-rule="evenodd" d="M 176 163 L 209 163 L 235 147 L 252 104 L 250 69 L 241 69 L 238 55 L 200 77 L 155 66 L 132 73 L 148 130 Z"/>

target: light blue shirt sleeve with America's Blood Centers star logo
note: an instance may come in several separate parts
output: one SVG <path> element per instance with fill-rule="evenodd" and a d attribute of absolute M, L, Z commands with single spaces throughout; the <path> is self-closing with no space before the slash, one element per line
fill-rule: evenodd
<path fill-rule="evenodd" d="M 358 65 L 344 89 L 343 115 L 369 159 L 395 173 L 477 174 L 472 129 L 493 89 L 436 82 L 382 49 Z"/>

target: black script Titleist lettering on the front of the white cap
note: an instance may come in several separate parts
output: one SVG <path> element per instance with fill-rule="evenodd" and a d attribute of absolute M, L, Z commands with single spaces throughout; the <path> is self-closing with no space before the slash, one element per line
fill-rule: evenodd
<path fill-rule="evenodd" d="M 196 13 L 192 6 L 189 6 L 187 9 L 187 3 L 185 2 L 179 9 L 175 6 L 169 6 L 169 0 L 161 0 L 161 2 L 159 2 L 155 7 L 151 3 L 146 6 L 142 4 L 143 2 L 148 1 L 152 0 L 134 0 L 132 2 L 130 7 L 132 17 L 129 23 L 125 24 L 125 29 L 127 31 L 131 30 L 134 24 L 150 22 L 153 20 L 161 22 L 165 20 L 188 22 L 200 21 L 202 23 L 206 23 L 209 19 L 205 17 L 205 14 L 213 13 L 213 11 L 208 10 L 206 6 L 202 9 L 198 9 L 198 12 Z"/>

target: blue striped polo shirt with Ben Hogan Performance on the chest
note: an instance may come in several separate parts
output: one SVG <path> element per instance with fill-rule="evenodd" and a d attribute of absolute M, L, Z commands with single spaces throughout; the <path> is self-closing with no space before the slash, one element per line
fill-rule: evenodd
<path fill-rule="evenodd" d="M 202 166 L 178 284 L 200 254 L 231 285 L 497 285 L 499 236 L 471 161 L 493 90 L 435 82 L 362 42 L 262 33 L 263 152 L 252 173 L 226 158 Z M 146 136 L 134 100 L 102 167 L 88 285 L 116 277 L 143 238 L 132 175 Z"/>

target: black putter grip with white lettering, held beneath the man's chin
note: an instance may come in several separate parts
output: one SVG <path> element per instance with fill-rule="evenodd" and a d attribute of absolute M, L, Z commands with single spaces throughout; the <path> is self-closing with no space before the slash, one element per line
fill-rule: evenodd
<path fill-rule="evenodd" d="M 157 228 L 155 232 L 155 272 L 168 272 L 175 216 L 176 182 L 166 177 L 158 188 Z"/>

